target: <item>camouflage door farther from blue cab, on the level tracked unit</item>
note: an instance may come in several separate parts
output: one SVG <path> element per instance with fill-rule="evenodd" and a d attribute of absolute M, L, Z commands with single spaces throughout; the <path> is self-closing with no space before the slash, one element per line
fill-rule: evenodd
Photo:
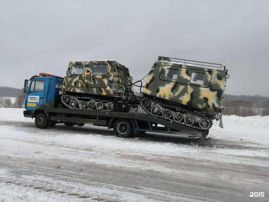
<path fill-rule="evenodd" d="M 92 66 L 91 88 L 107 88 L 108 84 L 108 63 L 95 63 Z"/>

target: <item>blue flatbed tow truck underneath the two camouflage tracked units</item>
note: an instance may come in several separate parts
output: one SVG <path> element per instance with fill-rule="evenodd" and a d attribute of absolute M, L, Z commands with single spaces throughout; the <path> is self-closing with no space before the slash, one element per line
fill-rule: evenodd
<path fill-rule="evenodd" d="M 40 73 L 24 80 L 26 93 L 24 117 L 34 118 L 36 127 L 45 129 L 55 124 L 84 126 L 91 124 L 113 128 L 118 137 L 129 137 L 133 132 L 182 134 L 205 138 L 206 131 L 199 131 L 150 114 L 136 112 L 110 112 L 98 110 L 67 109 L 61 105 L 63 78 Z"/>

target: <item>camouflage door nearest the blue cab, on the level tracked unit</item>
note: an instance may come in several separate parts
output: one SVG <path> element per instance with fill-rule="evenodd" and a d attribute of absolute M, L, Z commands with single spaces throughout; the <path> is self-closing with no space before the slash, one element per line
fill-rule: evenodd
<path fill-rule="evenodd" d="M 70 67 L 70 76 L 67 86 L 81 88 L 84 85 L 84 64 L 73 64 Z"/>

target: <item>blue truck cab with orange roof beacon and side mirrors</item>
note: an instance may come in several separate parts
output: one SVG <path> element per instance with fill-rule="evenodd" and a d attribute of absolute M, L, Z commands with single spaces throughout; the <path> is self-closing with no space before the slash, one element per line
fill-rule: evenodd
<path fill-rule="evenodd" d="M 29 84 L 29 85 L 28 85 Z M 51 74 L 40 73 L 24 81 L 24 116 L 31 117 L 38 105 L 56 107 L 59 104 L 59 90 L 62 89 L 63 78 Z"/>

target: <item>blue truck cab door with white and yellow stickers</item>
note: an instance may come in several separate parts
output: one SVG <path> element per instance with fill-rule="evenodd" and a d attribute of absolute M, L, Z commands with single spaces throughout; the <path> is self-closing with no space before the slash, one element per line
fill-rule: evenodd
<path fill-rule="evenodd" d="M 44 80 L 32 80 L 27 92 L 26 110 L 33 110 L 37 105 L 44 105 Z"/>

